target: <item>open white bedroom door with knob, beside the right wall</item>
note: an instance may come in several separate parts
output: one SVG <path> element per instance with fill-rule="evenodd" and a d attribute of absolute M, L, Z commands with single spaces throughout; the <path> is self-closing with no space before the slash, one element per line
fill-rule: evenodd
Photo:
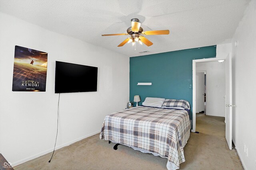
<path fill-rule="evenodd" d="M 226 140 L 232 149 L 232 59 L 231 53 L 226 58 Z"/>

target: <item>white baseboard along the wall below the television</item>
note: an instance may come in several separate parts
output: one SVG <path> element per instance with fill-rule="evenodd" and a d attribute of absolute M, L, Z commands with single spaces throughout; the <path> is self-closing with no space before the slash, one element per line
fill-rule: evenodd
<path fill-rule="evenodd" d="M 97 133 L 100 133 L 100 131 L 96 131 L 96 132 L 94 132 L 94 133 L 90 133 L 90 134 L 88 134 L 88 135 L 85 135 L 85 136 L 80 137 L 80 138 L 78 138 L 78 139 L 75 139 L 75 140 L 73 140 L 73 141 L 70 141 L 70 142 L 64 143 L 64 144 L 62 144 L 62 145 L 56 146 L 56 147 L 55 147 L 55 150 L 61 149 L 61 148 L 63 148 L 63 147 L 66 147 L 66 146 L 68 146 L 68 145 L 70 145 L 70 144 L 72 144 L 72 143 L 81 141 L 82 139 L 85 139 L 85 138 L 90 137 L 90 136 L 92 136 L 92 135 L 95 135 L 95 134 L 97 134 Z M 28 162 L 28 161 L 30 161 L 30 160 L 32 160 L 32 159 L 35 159 L 35 158 L 38 158 L 38 157 L 40 157 L 40 156 L 43 156 L 44 154 L 48 154 L 48 153 L 52 152 L 53 149 L 54 149 L 54 148 L 51 148 L 51 149 L 45 150 L 45 151 L 43 151 L 43 152 L 40 152 L 40 153 L 38 153 L 38 154 L 34 154 L 34 155 L 32 155 L 32 156 L 29 156 L 29 157 L 27 157 L 27 158 L 24 158 L 24 159 L 22 159 L 22 160 L 18 160 L 18 161 L 16 161 L 16 162 L 12 162 L 12 167 L 17 166 L 17 165 L 20 165 L 20 164 L 23 164 L 23 163 L 25 163 L 25 162 Z"/>

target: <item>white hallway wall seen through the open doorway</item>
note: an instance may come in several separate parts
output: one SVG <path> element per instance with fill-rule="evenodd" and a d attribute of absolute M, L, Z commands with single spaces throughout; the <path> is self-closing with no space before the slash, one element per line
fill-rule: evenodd
<path fill-rule="evenodd" d="M 225 61 L 196 63 L 196 71 L 206 71 L 206 115 L 225 117 L 225 65 Z"/>

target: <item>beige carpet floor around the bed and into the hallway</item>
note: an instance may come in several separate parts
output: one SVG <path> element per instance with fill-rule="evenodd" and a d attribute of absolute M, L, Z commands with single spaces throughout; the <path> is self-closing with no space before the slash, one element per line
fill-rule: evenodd
<path fill-rule="evenodd" d="M 197 114 L 196 131 L 184 148 L 186 162 L 182 170 L 242 170 L 235 149 L 229 150 L 225 139 L 224 117 Z M 154 156 L 100 140 L 96 134 L 70 146 L 15 166 L 15 170 L 166 170 L 167 158 Z"/>

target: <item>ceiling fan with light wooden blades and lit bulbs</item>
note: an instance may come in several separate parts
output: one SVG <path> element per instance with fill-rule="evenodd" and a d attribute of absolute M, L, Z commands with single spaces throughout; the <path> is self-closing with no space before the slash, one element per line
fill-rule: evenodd
<path fill-rule="evenodd" d="M 127 29 L 127 33 L 119 33 L 119 34 L 103 34 L 102 36 L 110 36 L 110 35 L 130 35 L 130 37 L 126 38 L 122 43 L 120 43 L 117 47 L 122 47 L 126 43 L 132 42 L 132 46 L 135 42 L 139 42 L 146 44 L 147 46 L 153 45 L 151 41 L 149 41 L 146 37 L 142 35 L 167 35 L 170 31 L 167 30 L 157 30 L 157 31 L 143 31 L 143 28 L 140 27 L 140 21 L 138 18 L 133 18 L 131 20 L 132 26 Z"/>

